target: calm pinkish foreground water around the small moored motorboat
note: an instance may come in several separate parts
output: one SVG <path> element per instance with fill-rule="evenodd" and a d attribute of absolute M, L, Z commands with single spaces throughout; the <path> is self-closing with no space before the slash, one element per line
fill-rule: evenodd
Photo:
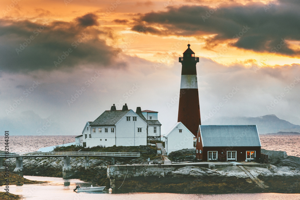
<path fill-rule="evenodd" d="M 24 176 L 24 178 L 36 181 L 49 181 L 45 184 L 24 184 L 22 186 L 10 185 L 10 193 L 23 195 L 28 200 L 98 200 L 98 199 L 281 199 L 298 200 L 300 194 L 280 194 L 280 193 L 251 193 L 251 194 L 176 194 L 176 193 L 123 193 L 109 194 L 104 192 L 73 192 L 76 185 L 87 187 L 90 184 L 77 179 L 64 180 L 62 178 Z"/>

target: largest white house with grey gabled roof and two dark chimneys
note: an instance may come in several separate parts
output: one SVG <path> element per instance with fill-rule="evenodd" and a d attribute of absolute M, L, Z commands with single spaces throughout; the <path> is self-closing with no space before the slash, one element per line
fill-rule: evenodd
<path fill-rule="evenodd" d="M 147 123 L 126 103 L 122 110 L 113 105 L 95 121 L 87 122 L 82 135 L 86 147 L 147 145 Z"/>

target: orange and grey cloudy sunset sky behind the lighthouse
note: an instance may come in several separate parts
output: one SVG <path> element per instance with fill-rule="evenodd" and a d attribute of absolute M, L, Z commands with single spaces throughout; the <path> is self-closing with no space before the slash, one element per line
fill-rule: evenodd
<path fill-rule="evenodd" d="M 113 104 L 178 115 L 190 48 L 203 125 L 277 115 L 300 125 L 298 0 L 1 0 L 0 129 L 80 135 Z"/>

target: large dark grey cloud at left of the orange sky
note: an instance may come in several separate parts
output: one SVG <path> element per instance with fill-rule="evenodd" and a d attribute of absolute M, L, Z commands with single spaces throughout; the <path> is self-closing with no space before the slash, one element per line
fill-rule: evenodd
<path fill-rule="evenodd" d="M 88 27 L 90 14 L 72 22 L 0 19 L 0 67 L 7 72 L 73 68 L 80 64 L 109 66 L 119 53 L 104 39 L 112 31 Z M 80 25 L 78 25 L 80 22 Z M 85 26 L 83 26 L 85 25 Z"/>

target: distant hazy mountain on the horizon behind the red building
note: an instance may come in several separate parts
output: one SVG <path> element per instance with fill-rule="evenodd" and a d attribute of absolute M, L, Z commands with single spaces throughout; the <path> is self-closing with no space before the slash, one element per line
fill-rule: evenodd
<path fill-rule="evenodd" d="M 278 132 L 300 133 L 300 126 L 279 119 L 276 115 L 265 115 L 260 117 L 221 117 L 210 121 L 205 125 L 256 125 L 259 134 Z"/>

